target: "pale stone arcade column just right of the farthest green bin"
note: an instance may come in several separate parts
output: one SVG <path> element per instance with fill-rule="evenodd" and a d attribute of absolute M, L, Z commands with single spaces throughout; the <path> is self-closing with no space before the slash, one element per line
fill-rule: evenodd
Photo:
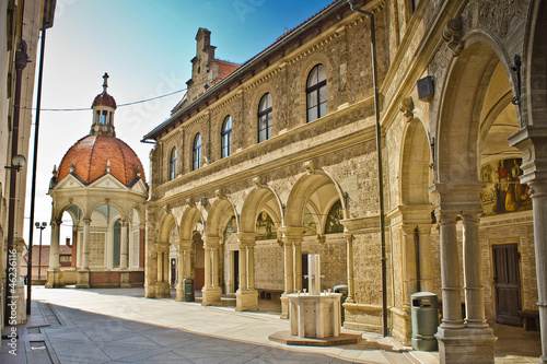
<path fill-rule="evenodd" d="M 219 236 L 205 236 L 205 286 L 202 293 L 202 306 L 221 305 L 222 289 L 219 286 Z M 217 259 L 214 257 L 217 256 Z"/>

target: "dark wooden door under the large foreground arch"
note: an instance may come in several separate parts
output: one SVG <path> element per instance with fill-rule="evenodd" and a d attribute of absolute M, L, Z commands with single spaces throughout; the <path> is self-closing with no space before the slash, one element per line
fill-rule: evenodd
<path fill-rule="evenodd" d="M 521 279 L 516 244 L 492 246 L 496 316 L 498 324 L 522 326 Z"/>

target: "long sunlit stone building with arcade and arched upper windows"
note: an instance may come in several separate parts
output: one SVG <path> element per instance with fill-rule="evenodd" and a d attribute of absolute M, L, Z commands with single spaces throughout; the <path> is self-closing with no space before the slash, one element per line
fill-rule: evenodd
<path fill-rule="evenodd" d="M 493 362 L 489 324 L 537 310 L 547 360 L 546 12 L 335 1 L 228 74 L 200 28 L 186 96 L 143 138 L 147 296 L 170 295 L 174 247 L 177 300 L 193 278 L 203 305 L 278 292 L 287 317 L 319 254 L 347 328 L 408 342 L 430 291 L 442 362 Z"/>

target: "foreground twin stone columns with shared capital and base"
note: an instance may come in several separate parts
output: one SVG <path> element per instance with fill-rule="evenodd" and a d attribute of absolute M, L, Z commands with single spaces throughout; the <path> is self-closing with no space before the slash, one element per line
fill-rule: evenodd
<path fill-rule="evenodd" d="M 481 292 L 481 255 L 478 211 L 480 211 L 481 183 L 435 185 L 440 191 L 437 215 L 440 221 L 441 281 L 443 320 L 435 334 L 439 340 L 441 363 L 493 363 L 493 343 L 497 338 L 484 321 Z M 456 218 L 463 219 L 465 297 L 467 313 L 462 319 Z M 479 302 L 480 301 L 480 302 Z"/>

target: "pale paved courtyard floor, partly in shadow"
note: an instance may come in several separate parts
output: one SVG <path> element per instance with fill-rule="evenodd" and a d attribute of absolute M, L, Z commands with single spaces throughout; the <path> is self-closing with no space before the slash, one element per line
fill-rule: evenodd
<path fill-rule="evenodd" d="M 271 333 L 289 330 L 289 321 L 277 314 L 235 313 L 233 307 L 202 307 L 142 295 L 142 289 L 35 286 L 28 322 L 18 327 L 18 355 L 11 355 L 10 341 L 2 340 L 0 363 L 438 362 L 437 353 L 412 351 L 370 333 L 352 345 L 287 347 L 268 340 Z M 517 345 L 521 352 L 502 348 L 509 352 L 497 354 L 497 363 L 536 363 L 537 356 L 526 356 L 525 349 L 538 342 L 538 333 L 529 334 L 519 331 L 524 343 Z"/>

